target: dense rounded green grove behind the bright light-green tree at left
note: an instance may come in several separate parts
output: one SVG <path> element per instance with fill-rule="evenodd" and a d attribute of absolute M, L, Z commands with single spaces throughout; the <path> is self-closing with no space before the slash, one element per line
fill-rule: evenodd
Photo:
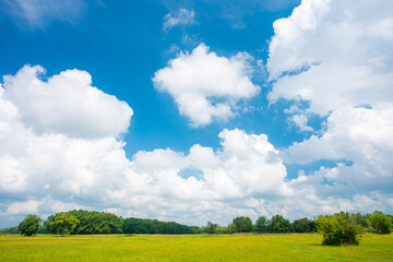
<path fill-rule="evenodd" d="M 119 234 L 122 233 L 123 219 L 115 214 L 97 211 L 73 210 L 68 214 L 75 216 L 80 224 L 73 229 L 69 229 L 71 235 L 91 235 L 91 234 Z M 49 216 L 45 226 L 49 234 L 59 234 L 60 229 L 50 222 L 56 216 Z"/>

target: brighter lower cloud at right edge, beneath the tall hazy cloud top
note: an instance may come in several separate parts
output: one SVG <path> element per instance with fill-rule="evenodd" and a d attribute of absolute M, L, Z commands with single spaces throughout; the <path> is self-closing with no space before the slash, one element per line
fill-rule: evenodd
<path fill-rule="evenodd" d="M 286 162 L 312 163 L 318 159 L 345 160 L 338 164 L 334 190 L 391 193 L 393 187 L 393 106 L 335 110 L 327 118 L 327 129 L 294 143 L 283 152 Z M 333 190 L 333 189 L 332 189 Z"/>

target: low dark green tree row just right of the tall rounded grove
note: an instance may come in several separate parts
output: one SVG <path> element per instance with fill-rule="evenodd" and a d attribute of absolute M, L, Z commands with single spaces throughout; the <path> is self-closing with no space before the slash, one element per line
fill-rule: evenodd
<path fill-rule="evenodd" d="M 175 222 L 160 222 L 157 219 L 126 218 L 122 231 L 124 234 L 199 234 L 201 229 L 195 226 L 180 225 Z"/>

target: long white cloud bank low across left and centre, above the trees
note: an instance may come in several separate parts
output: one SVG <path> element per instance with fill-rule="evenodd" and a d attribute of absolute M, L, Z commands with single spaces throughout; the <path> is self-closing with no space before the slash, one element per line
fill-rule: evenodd
<path fill-rule="evenodd" d="M 23 211 L 48 214 L 78 209 L 82 206 L 79 203 L 84 203 L 87 207 L 111 206 L 120 213 L 138 211 L 148 217 L 202 224 L 209 214 L 227 221 L 239 210 L 254 213 L 254 207 L 243 207 L 245 198 L 276 199 L 293 194 L 284 181 L 286 170 L 278 152 L 266 135 L 224 130 L 219 136 L 223 140 L 219 151 L 195 144 L 188 155 L 155 150 L 139 152 L 129 160 L 123 143 L 112 139 L 31 134 L 25 151 L 13 153 L 11 171 L 0 176 L 5 199 L 29 195 L 35 200 L 34 210 L 22 209 L 29 201 L 12 202 L 9 206 L 13 207 L 7 209 L 4 215 L 13 215 L 16 210 L 17 214 Z M 10 145 L 0 144 L 2 150 Z M 201 170 L 201 176 L 181 177 L 186 168 Z M 17 177 L 14 172 L 21 176 L 10 187 L 7 176 Z M 235 207 L 231 202 L 236 203 Z M 53 205 L 58 209 L 50 210 Z M 222 209 L 226 210 L 223 214 Z"/>

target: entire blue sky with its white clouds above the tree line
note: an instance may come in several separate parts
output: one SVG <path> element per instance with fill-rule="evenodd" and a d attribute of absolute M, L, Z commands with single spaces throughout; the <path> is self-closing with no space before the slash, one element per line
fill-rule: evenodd
<path fill-rule="evenodd" d="M 2 1 L 0 225 L 392 212 L 390 5 Z"/>

